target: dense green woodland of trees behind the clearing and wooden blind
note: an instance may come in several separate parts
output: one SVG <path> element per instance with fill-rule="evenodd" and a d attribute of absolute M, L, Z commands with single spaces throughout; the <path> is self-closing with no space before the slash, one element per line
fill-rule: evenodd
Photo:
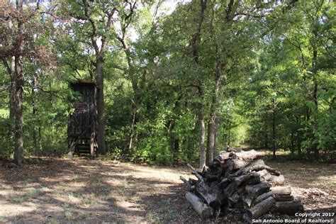
<path fill-rule="evenodd" d="M 96 83 L 99 155 L 203 167 L 227 145 L 336 150 L 330 0 L 0 3 L 0 156 L 65 155 Z"/>

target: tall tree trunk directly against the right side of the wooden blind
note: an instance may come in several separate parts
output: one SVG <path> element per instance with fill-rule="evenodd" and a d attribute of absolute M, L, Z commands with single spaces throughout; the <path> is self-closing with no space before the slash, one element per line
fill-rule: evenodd
<path fill-rule="evenodd" d="M 96 58 L 96 83 L 97 83 L 97 143 L 101 155 L 106 154 L 105 145 L 105 105 L 103 96 L 103 56 Z"/>

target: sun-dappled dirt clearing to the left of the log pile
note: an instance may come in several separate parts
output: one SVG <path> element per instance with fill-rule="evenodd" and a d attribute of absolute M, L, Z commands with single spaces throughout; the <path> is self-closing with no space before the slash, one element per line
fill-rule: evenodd
<path fill-rule="evenodd" d="M 38 159 L 0 168 L 0 222 L 170 222 L 187 209 L 184 168 Z"/>

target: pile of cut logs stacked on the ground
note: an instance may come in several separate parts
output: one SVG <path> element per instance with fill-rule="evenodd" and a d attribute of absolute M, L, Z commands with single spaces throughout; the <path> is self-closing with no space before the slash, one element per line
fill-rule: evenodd
<path fill-rule="evenodd" d="M 240 211 L 242 220 L 251 221 L 266 213 L 293 215 L 303 211 L 301 201 L 284 186 L 284 175 L 264 164 L 264 152 L 223 151 L 198 172 L 197 179 L 186 180 L 186 199 L 203 219 L 217 218 Z"/>

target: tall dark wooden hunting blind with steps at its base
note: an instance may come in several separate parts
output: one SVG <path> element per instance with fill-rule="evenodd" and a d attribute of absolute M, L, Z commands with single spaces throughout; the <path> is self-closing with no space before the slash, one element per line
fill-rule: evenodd
<path fill-rule="evenodd" d="M 79 81 L 70 84 L 70 87 L 77 97 L 67 126 L 68 150 L 93 156 L 97 145 L 96 84 Z"/>

